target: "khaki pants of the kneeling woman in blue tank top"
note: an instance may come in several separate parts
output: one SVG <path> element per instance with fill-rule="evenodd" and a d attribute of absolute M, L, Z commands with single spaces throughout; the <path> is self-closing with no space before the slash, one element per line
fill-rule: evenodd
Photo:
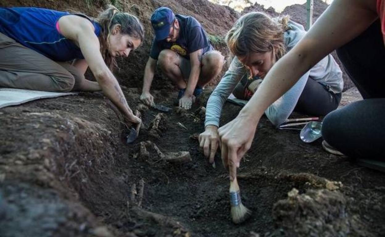
<path fill-rule="evenodd" d="M 84 80 L 77 68 L 55 62 L 0 33 L 0 87 L 39 91 L 77 90 Z"/>

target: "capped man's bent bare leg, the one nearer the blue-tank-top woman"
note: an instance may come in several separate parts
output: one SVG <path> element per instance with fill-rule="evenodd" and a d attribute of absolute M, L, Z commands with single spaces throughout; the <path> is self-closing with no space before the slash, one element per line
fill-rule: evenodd
<path fill-rule="evenodd" d="M 187 84 L 179 69 L 180 62 L 180 56 L 172 50 L 162 50 L 159 54 L 158 63 L 161 70 L 178 88 L 182 89 L 186 88 Z"/>

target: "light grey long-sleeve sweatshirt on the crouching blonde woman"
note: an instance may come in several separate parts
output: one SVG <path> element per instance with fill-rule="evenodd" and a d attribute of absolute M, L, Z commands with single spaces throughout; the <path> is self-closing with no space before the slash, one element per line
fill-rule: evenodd
<path fill-rule="evenodd" d="M 291 50 L 303 38 L 305 33 L 306 31 L 302 25 L 289 21 L 289 30 L 284 33 L 287 51 Z M 229 69 L 207 101 L 204 126 L 215 125 L 219 127 L 223 104 L 246 73 L 249 73 L 248 70 L 238 58 L 234 57 Z M 343 89 L 341 69 L 333 56 L 329 54 L 307 71 L 292 88 L 266 109 L 265 114 L 271 123 L 278 126 L 290 116 L 309 77 L 328 86 L 333 93 L 340 93 Z"/>

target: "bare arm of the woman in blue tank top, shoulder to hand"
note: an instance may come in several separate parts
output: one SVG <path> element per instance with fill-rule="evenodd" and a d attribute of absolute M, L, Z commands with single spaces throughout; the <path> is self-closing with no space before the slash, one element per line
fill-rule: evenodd
<path fill-rule="evenodd" d="M 89 20 L 71 16 L 64 19 L 60 18 L 59 23 L 62 34 L 79 45 L 105 96 L 117 106 L 126 120 L 140 123 L 140 119 L 134 116 L 128 106 L 119 83 L 103 60 L 100 53 L 99 39 L 95 35 L 94 27 Z"/>

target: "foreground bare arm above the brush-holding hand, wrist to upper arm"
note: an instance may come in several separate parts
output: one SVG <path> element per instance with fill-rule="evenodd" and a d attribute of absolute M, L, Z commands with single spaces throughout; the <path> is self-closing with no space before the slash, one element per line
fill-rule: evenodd
<path fill-rule="evenodd" d="M 241 113 L 254 117 L 254 121 L 259 120 L 266 108 L 306 71 L 359 35 L 376 18 L 375 0 L 335 0 L 305 37 L 273 66 Z"/>

